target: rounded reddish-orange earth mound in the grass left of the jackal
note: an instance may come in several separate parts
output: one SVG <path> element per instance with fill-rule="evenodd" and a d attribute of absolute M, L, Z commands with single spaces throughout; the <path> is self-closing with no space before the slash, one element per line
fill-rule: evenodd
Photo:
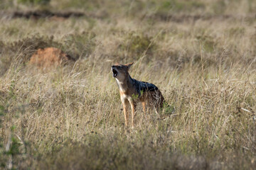
<path fill-rule="evenodd" d="M 38 49 L 31 57 L 29 64 L 41 69 L 57 67 L 68 62 L 68 55 L 55 47 Z"/>

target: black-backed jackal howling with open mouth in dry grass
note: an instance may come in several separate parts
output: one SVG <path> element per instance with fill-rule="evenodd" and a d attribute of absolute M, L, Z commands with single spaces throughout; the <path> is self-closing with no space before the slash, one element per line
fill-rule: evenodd
<path fill-rule="evenodd" d="M 114 64 L 112 65 L 112 72 L 119 86 L 120 97 L 124 108 L 125 125 L 127 126 L 127 108 L 130 104 L 132 108 L 132 128 L 134 128 L 134 114 L 137 102 L 142 102 L 144 113 L 146 113 L 146 106 L 153 106 L 156 108 L 156 111 L 159 111 L 159 108 L 163 106 L 164 97 L 154 84 L 138 81 L 130 77 L 128 71 L 132 64 L 133 62 L 124 65 Z"/>

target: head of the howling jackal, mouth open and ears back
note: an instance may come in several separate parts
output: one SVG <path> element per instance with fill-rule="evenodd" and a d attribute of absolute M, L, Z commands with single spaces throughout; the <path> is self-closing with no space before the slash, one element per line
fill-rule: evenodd
<path fill-rule="evenodd" d="M 127 77 L 128 70 L 132 66 L 132 64 L 133 62 L 124 65 L 119 63 L 112 65 L 113 77 L 118 79 L 119 81 L 124 80 Z"/>

